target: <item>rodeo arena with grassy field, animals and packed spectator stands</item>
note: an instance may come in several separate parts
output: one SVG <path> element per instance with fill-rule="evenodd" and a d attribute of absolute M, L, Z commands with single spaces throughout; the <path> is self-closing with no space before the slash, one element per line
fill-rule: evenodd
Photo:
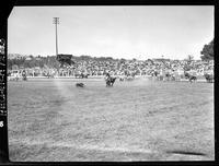
<path fill-rule="evenodd" d="M 214 159 L 214 60 L 28 60 L 8 69 L 11 161 Z"/>

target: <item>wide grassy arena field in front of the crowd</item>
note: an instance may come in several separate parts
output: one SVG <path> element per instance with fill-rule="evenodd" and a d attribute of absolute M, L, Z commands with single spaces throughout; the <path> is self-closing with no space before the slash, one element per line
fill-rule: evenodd
<path fill-rule="evenodd" d="M 215 159 L 211 83 L 9 82 L 8 114 L 12 162 Z"/>

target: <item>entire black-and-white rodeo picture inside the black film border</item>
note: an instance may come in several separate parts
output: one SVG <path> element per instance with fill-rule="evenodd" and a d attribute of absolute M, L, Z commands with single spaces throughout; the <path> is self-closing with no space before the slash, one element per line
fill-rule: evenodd
<path fill-rule="evenodd" d="M 9 159 L 215 161 L 214 13 L 214 5 L 14 7 Z"/>

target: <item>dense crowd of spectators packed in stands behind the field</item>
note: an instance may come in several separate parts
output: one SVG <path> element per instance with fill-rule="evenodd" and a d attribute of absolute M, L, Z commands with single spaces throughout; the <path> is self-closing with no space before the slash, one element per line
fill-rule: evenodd
<path fill-rule="evenodd" d="M 148 60 L 79 60 L 71 67 L 55 68 L 31 68 L 19 69 L 18 73 L 25 72 L 27 76 L 74 76 L 77 74 L 89 75 L 152 75 L 175 73 L 183 74 L 184 71 L 193 72 L 196 75 L 204 75 L 206 72 L 214 73 L 214 60 L 166 60 L 166 59 L 148 59 Z M 9 71 L 9 75 L 15 71 Z"/>

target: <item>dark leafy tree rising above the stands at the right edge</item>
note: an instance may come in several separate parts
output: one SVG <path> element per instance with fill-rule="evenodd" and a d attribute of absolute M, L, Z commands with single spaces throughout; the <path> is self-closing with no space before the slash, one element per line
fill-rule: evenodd
<path fill-rule="evenodd" d="M 203 55 L 200 56 L 201 60 L 208 61 L 214 59 L 214 39 L 208 45 L 204 46 L 200 55 Z"/>

